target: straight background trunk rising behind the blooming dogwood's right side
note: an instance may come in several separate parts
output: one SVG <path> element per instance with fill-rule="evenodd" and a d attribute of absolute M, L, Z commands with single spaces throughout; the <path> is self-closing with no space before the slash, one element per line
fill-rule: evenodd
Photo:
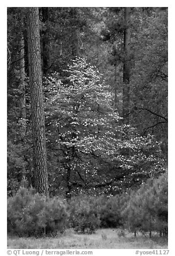
<path fill-rule="evenodd" d="M 123 63 L 123 123 L 129 125 L 129 77 L 130 77 L 130 7 L 125 7 L 124 63 Z"/>

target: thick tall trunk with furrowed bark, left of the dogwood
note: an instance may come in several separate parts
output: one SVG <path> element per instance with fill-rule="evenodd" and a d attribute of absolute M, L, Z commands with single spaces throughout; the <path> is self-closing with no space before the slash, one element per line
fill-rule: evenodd
<path fill-rule="evenodd" d="M 45 116 L 42 95 L 39 11 L 37 7 L 28 8 L 28 60 L 30 71 L 35 189 L 38 193 L 48 196 Z"/>

